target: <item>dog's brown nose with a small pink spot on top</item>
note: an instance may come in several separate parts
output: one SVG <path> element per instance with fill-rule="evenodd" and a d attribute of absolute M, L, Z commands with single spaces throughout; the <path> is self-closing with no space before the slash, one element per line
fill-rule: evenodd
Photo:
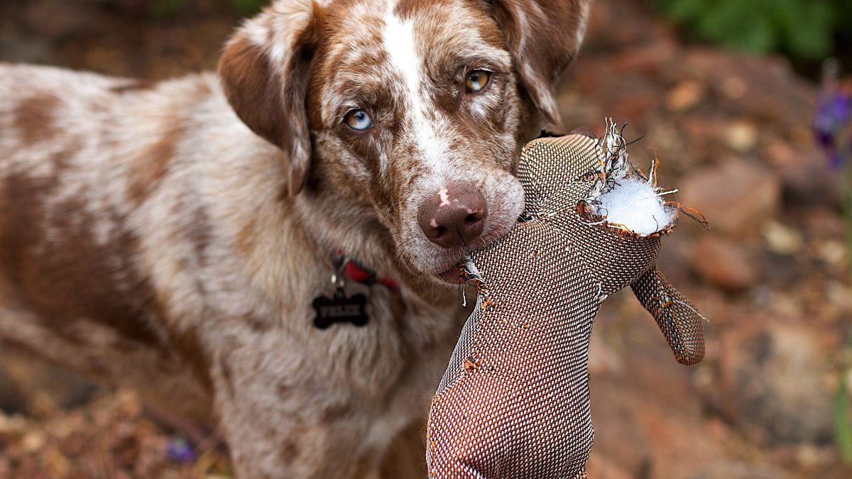
<path fill-rule="evenodd" d="M 482 234 L 488 208 L 479 188 L 451 184 L 423 201 L 417 222 L 429 241 L 442 248 L 469 245 Z"/>

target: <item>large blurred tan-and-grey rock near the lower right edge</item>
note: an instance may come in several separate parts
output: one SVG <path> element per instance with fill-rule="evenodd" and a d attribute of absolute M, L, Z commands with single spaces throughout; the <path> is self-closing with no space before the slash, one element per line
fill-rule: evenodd
<path fill-rule="evenodd" d="M 826 378 L 828 336 L 763 317 L 730 328 L 719 355 L 719 400 L 728 419 L 753 441 L 827 444 L 832 440 Z"/>

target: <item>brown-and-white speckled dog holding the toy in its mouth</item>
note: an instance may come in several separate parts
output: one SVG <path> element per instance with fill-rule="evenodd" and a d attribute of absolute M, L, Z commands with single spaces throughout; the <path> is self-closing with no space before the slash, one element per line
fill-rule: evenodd
<path fill-rule="evenodd" d="M 3 347 L 217 421 L 240 477 L 378 476 L 589 3 L 278 0 L 153 85 L 0 65 Z M 348 281 L 366 326 L 314 326 L 338 251 L 392 280 Z"/>

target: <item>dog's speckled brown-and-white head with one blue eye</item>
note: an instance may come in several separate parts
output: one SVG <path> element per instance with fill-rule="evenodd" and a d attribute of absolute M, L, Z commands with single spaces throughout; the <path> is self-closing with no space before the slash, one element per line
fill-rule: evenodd
<path fill-rule="evenodd" d="M 412 272 L 449 280 L 521 213 L 511 172 L 540 119 L 558 123 L 591 0 L 326 3 L 278 0 L 243 26 L 228 101 L 287 153 L 291 195 L 359 205 Z"/>

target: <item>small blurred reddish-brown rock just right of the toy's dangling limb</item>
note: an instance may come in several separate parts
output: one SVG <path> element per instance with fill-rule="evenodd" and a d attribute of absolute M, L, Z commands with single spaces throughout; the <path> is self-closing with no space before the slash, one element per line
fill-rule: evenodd
<path fill-rule="evenodd" d="M 742 291 L 758 279 L 758 262 L 741 243 L 720 235 L 703 236 L 696 241 L 692 254 L 696 273 L 725 291 Z"/>

